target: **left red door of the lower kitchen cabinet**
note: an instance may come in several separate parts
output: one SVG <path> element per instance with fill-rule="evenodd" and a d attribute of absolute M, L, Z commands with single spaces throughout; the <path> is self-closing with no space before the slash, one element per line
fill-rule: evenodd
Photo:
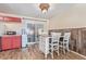
<path fill-rule="evenodd" d="M 2 37 L 2 50 L 11 49 L 11 37 Z"/>

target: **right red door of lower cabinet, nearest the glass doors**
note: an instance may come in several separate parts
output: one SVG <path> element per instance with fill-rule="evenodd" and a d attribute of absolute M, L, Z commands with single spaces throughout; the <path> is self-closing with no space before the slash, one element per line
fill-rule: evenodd
<path fill-rule="evenodd" d="M 21 36 L 14 36 L 12 37 L 12 48 L 21 48 Z"/>

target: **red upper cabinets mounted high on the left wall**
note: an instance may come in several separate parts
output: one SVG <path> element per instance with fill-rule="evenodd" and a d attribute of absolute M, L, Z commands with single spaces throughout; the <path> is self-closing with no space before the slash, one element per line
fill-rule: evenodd
<path fill-rule="evenodd" d="M 1 22 L 13 22 L 13 23 L 21 23 L 20 17 L 11 17 L 11 16 L 0 16 Z"/>

